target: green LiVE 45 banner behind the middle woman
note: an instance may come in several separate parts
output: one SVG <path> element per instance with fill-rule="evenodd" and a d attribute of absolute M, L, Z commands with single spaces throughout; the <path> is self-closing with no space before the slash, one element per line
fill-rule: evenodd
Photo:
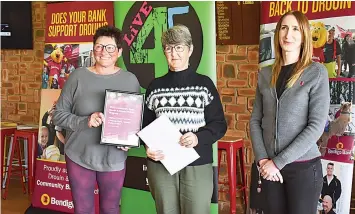
<path fill-rule="evenodd" d="M 194 51 L 190 66 L 216 82 L 214 2 L 114 2 L 115 25 L 123 32 L 123 53 L 119 66 L 134 73 L 142 92 L 156 77 L 168 72 L 161 35 L 168 28 L 183 24 L 192 35 Z M 217 144 L 214 145 L 214 193 L 211 213 L 218 213 Z M 121 213 L 156 213 L 146 179 L 144 148 L 132 149 L 122 191 Z"/>

